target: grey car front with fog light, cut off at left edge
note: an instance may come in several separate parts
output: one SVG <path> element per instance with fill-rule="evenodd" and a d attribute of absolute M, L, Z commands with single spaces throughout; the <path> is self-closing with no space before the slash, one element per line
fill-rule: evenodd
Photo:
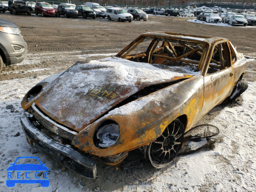
<path fill-rule="evenodd" d="M 2 66 L 22 62 L 28 50 L 20 29 L 13 22 L 0 19 L 0 71 Z"/>

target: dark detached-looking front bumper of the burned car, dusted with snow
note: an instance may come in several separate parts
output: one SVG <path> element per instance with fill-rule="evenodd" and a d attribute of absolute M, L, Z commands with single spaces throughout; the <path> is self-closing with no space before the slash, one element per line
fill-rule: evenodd
<path fill-rule="evenodd" d="M 74 150 L 72 147 L 55 142 L 42 132 L 40 132 L 28 119 L 20 118 L 22 130 L 26 135 L 28 143 L 36 146 L 40 152 L 56 160 L 71 170 L 78 172 L 87 178 L 96 178 L 96 162 Z"/>

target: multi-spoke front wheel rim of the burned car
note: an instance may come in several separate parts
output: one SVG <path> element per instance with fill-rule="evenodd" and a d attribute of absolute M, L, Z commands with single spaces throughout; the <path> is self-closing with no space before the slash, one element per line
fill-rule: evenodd
<path fill-rule="evenodd" d="M 148 147 L 148 158 L 156 168 L 168 166 L 182 147 L 184 126 L 180 120 L 171 122 L 159 138 Z"/>

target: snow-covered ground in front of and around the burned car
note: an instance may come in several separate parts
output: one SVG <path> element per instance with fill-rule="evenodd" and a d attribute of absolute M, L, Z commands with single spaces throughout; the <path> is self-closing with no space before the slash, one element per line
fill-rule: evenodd
<path fill-rule="evenodd" d="M 19 119 L 25 111 L 20 102 L 32 86 L 47 77 L 0 81 L 0 191 L 256 191 L 256 82 L 248 82 L 248 89 L 238 98 L 240 104 L 217 106 L 209 112 L 216 115 L 207 123 L 220 129 L 214 150 L 180 156 L 159 170 L 130 158 L 124 172 L 99 166 L 98 178 L 91 180 L 50 160 L 26 142 Z M 15 108 L 12 112 L 6 109 L 10 104 Z M 37 156 L 46 164 L 50 169 L 48 188 L 40 184 L 6 187 L 6 169 L 19 156 Z"/>

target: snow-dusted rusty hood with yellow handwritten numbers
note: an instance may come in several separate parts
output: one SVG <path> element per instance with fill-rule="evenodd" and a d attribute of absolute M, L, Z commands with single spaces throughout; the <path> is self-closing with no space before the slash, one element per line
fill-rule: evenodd
<path fill-rule="evenodd" d="M 38 98 L 36 105 L 50 118 L 80 131 L 148 85 L 197 74 L 116 57 L 80 62 L 60 75 Z"/>

